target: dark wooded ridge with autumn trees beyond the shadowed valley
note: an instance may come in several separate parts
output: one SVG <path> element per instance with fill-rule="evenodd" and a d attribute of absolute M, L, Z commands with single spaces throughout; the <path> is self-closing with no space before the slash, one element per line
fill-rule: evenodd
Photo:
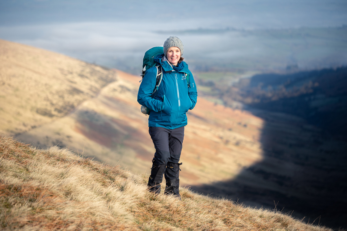
<path fill-rule="evenodd" d="M 347 68 L 292 74 L 259 74 L 231 87 L 212 86 L 224 104 L 235 101 L 273 112 L 293 114 L 330 131 L 347 134 Z"/>

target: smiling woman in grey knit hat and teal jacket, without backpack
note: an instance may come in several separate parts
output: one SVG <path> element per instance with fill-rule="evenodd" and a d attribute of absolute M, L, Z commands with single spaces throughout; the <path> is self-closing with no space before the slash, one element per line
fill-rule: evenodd
<path fill-rule="evenodd" d="M 150 109 L 148 125 L 155 153 L 152 160 L 149 190 L 160 193 L 163 174 L 166 180 L 166 194 L 179 195 L 179 158 L 187 125 L 186 113 L 196 104 L 197 91 L 191 71 L 183 61 L 183 43 L 170 36 L 163 45 L 164 54 L 154 58 L 162 68 L 163 78 L 152 98 L 156 83 L 156 67 L 146 71 L 138 90 L 137 101 Z M 189 80 L 188 80 L 189 79 Z"/>

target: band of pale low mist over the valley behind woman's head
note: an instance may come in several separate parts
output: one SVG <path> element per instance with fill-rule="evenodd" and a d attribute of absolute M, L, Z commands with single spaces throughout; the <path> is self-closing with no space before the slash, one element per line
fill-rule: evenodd
<path fill-rule="evenodd" d="M 324 48 L 326 54 L 320 52 L 322 48 L 318 37 L 305 37 L 311 31 L 300 29 L 293 29 L 296 30 L 294 33 L 289 29 L 198 29 L 181 26 L 181 21 L 164 21 L 156 25 L 153 27 L 137 21 L 90 21 L 1 26 L 0 38 L 132 73 L 141 70 L 144 52 L 153 46 L 162 46 L 170 35 L 178 36 L 183 41 L 183 56 L 195 66 L 285 68 L 290 61 L 288 59 L 294 57 L 299 66 L 305 67 L 308 64 L 314 66 L 318 61 L 321 63 L 326 57 L 339 57 L 340 53 L 345 52 L 336 50 L 336 47 L 344 45 L 343 41 L 336 42 L 335 37 L 327 36 L 319 38 L 322 41 L 325 39 L 324 43 L 329 45 Z M 321 33 L 325 33 L 325 30 L 322 29 L 317 35 Z M 329 39 L 335 42 L 330 43 Z M 345 61 L 337 61 L 332 60 L 330 65 L 345 64 Z"/>

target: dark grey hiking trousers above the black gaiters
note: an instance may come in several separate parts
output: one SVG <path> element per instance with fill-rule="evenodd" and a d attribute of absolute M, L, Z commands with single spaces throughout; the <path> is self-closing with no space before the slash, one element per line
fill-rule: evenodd
<path fill-rule="evenodd" d="M 154 144 L 154 161 L 158 165 L 168 162 L 178 163 L 181 156 L 184 126 L 175 129 L 149 127 L 149 133 Z"/>

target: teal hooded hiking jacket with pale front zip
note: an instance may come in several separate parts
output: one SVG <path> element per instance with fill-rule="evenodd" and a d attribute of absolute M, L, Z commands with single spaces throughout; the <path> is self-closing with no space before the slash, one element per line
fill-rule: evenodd
<path fill-rule="evenodd" d="M 149 127 L 175 129 L 187 125 L 186 113 L 195 107 L 197 100 L 196 85 L 186 62 L 182 61 L 183 68 L 177 72 L 168 61 L 163 61 L 162 57 L 163 54 L 154 59 L 163 70 L 158 91 L 153 97 L 157 71 L 154 66 L 145 73 L 138 89 L 137 101 L 150 109 Z M 189 74 L 188 83 L 186 73 Z"/>

